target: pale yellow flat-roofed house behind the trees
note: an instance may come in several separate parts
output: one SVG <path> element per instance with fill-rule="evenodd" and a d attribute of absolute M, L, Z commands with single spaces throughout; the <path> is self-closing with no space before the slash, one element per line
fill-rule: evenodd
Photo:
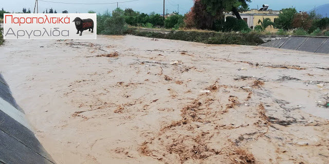
<path fill-rule="evenodd" d="M 281 11 L 276 11 L 276 10 L 269 10 L 268 5 L 263 5 L 262 8 L 260 9 L 251 9 L 248 11 L 244 11 L 240 13 L 240 16 L 245 22 L 248 24 L 248 27 L 253 29 L 255 26 L 260 25 L 258 23 L 258 20 L 262 20 L 263 18 L 270 18 L 271 22 L 276 22 L 276 19 L 279 17 Z M 226 13 L 225 14 L 225 21 L 227 16 L 233 16 L 235 17 L 234 14 L 232 13 Z M 269 26 L 265 29 L 266 31 L 269 32 L 277 32 L 278 29 L 273 28 L 272 26 Z"/>

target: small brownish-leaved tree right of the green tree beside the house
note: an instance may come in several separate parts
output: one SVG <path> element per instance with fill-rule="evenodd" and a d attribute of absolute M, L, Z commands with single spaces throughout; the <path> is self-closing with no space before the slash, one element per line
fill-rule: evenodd
<path fill-rule="evenodd" d="M 306 12 L 297 13 L 294 15 L 292 26 L 293 28 L 308 30 L 312 27 L 312 19 L 309 18 Z"/>

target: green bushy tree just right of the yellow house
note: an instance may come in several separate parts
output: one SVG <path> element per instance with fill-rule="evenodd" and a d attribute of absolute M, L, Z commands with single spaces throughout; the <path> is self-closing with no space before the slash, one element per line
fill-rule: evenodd
<path fill-rule="evenodd" d="M 297 13 L 295 8 L 282 9 L 276 22 L 276 27 L 284 30 L 292 29 L 294 15 Z"/>

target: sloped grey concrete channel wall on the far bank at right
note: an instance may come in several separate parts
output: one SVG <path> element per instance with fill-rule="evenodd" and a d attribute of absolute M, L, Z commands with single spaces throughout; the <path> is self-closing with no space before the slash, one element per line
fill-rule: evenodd
<path fill-rule="evenodd" d="M 329 37 L 290 36 L 272 40 L 261 46 L 329 54 Z"/>

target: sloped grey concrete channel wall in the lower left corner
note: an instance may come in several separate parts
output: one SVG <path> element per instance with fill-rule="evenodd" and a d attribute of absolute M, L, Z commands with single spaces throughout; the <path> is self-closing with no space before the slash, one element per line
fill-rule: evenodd
<path fill-rule="evenodd" d="M 23 110 L 0 74 L 0 163 L 54 163 L 34 136 Z"/>

